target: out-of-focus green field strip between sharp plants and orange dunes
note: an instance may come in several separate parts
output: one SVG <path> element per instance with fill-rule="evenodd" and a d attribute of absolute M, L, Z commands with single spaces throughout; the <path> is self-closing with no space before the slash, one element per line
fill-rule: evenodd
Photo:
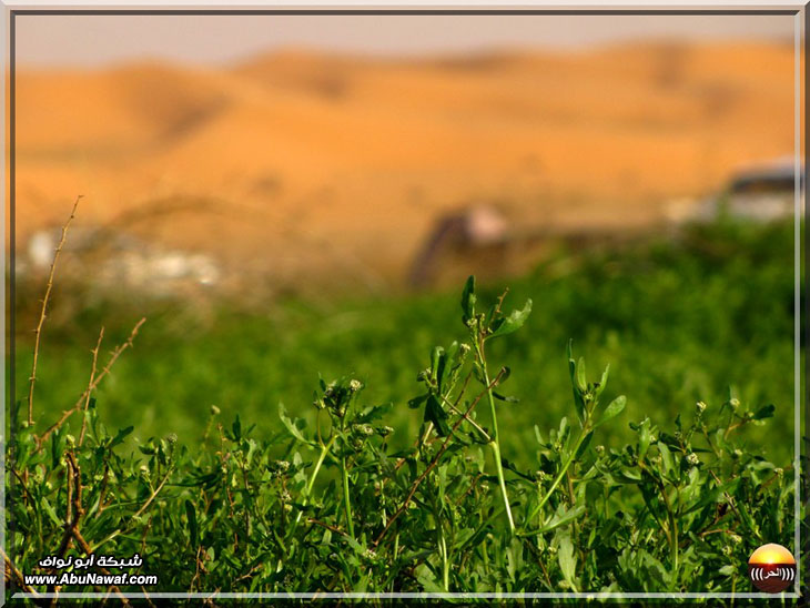
<path fill-rule="evenodd" d="M 719 405 L 729 386 L 751 407 L 772 403 L 773 424 L 767 432 L 752 429 L 750 440 L 787 462 L 793 433 L 793 267 L 792 225 L 720 224 L 692 229 L 677 243 L 560 252 L 529 276 L 487 285 L 484 300 L 494 301 L 508 286 L 507 303 L 527 297 L 535 303 L 525 330 L 492 347 L 492 361 L 513 371 L 505 389 L 520 399 L 502 414 L 510 436 L 506 455 L 530 466 L 534 425 L 546 428 L 571 415 L 565 351 L 573 338 L 575 352 L 594 369 L 610 364 L 609 391 L 628 395 L 629 420 L 650 416 L 666 423 L 701 399 Z M 54 315 L 59 305 L 57 294 Z M 172 430 L 194 443 L 216 405 L 225 420 L 240 414 L 267 437 L 279 428 L 280 402 L 313 420 L 318 375 L 353 376 L 367 385 L 367 403 L 394 404 L 394 444 L 405 445 L 421 422 L 406 407 L 418 392 L 416 371 L 427 366 L 434 345 L 462 340 L 465 330 L 457 287 L 392 298 L 273 302 L 250 313 L 222 307 L 204 322 L 188 307 L 99 307 L 62 326 L 45 325 L 38 409 L 55 419 L 75 402 L 102 324 L 100 364 L 145 315 L 134 348 L 95 395 L 111 426 L 134 425 L 143 440 Z M 23 397 L 27 337 L 17 342 Z M 606 440 L 626 439 L 626 426 L 611 429 L 616 436 Z"/>

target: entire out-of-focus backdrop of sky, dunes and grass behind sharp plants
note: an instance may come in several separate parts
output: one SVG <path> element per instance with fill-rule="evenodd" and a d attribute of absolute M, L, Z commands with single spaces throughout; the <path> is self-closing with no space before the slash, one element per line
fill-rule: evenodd
<path fill-rule="evenodd" d="M 535 301 L 494 344 L 522 399 L 508 458 L 571 416 L 569 337 L 593 374 L 611 364 L 629 419 L 671 426 L 730 386 L 777 405 L 751 440 L 788 458 L 793 31 L 790 16 L 18 16 L 18 398 L 82 194 L 42 338 L 49 422 L 87 386 L 99 327 L 103 358 L 145 315 L 97 394 L 141 440 L 194 440 L 211 405 L 270 434 L 280 401 L 310 416 L 318 374 L 354 374 L 409 443 L 416 372 L 464 338 L 475 273 L 485 297 Z"/>

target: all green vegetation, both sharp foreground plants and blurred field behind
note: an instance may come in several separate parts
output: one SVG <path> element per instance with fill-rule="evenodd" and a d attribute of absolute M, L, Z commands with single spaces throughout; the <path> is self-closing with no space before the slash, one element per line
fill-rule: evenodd
<path fill-rule="evenodd" d="M 60 321 L 58 292 L 33 426 L 17 343 L 11 584 L 103 551 L 141 555 L 160 590 L 751 590 L 755 548 L 796 549 L 792 231 L 559 251 L 499 304 L 470 280 Z M 45 432 L 99 325 L 120 344 L 144 314 L 87 435 L 79 415 Z"/>

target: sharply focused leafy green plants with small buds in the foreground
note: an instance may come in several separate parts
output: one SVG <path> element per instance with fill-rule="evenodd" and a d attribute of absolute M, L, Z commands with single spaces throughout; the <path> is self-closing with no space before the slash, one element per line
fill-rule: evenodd
<path fill-rule="evenodd" d="M 43 556 L 101 553 L 139 554 L 156 586 L 72 591 L 748 590 L 753 548 L 789 546 L 793 534 L 792 467 L 738 438 L 773 406 L 747 408 L 735 395 L 700 402 L 671 427 L 631 422 L 634 442 L 605 446 L 599 433 L 619 424 L 627 401 L 603 405 L 608 369 L 589 381 L 569 343 L 576 423 L 535 426 L 534 466 L 522 468 L 505 453 L 528 447 L 510 445 L 497 416 L 525 405 L 504 392 L 509 367 L 487 346 L 518 331 L 531 302 L 506 313 L 505 295 L 478 312 L 467 281 L 465 337 L 429 352 L 409 401 L 366 403 L 363 382 L 322 379 L 314 425 L 280 405 L 282 430 L 264 439 L 239 416 L 223 425 L 212 407 L 193 449 L 170 434 L 133 454 L 133 428 L 110 432 L 91 391 L 39 432 L 43 422 L 29 424 L 16 404 L 11 591 L 59 590 L 26 578 L 54 574 Z M 404 449 L 391 447 L 394 428 L 383 424 L 394 408 L 421 415 Z"/>

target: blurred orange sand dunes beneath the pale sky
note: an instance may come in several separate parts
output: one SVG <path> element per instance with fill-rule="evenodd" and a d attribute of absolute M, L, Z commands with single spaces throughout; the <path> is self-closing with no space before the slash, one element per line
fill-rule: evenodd
<path fill-rule="evenodd" d="M 120 229 L 280 284 L 402 284 L 445 213 L 644 229 L 793 150 L 793 50 L 638 43 L 17 74 L 17 239 Z M 8 213 L 8 211 L 7 211 Z"/>

